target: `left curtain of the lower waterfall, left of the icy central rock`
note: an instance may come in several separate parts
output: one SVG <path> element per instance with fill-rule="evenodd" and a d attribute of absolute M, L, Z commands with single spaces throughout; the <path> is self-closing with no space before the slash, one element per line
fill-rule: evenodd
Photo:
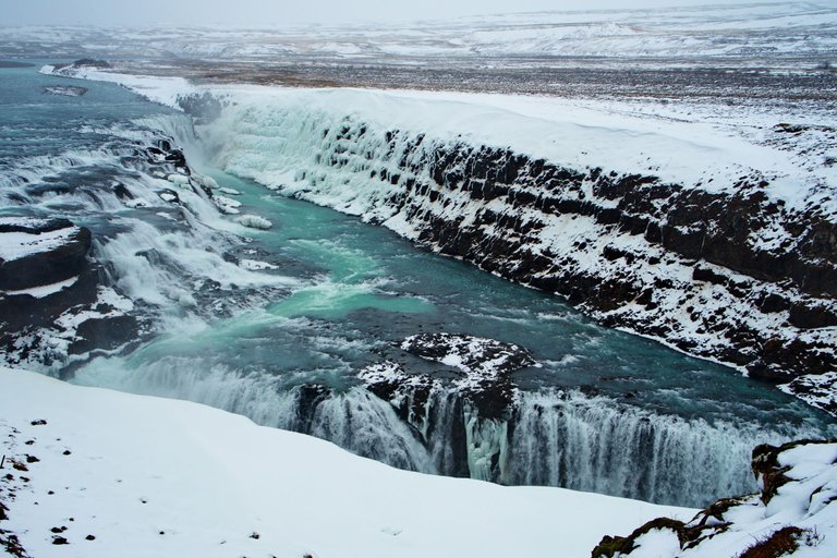
<path fill-rule="evenodd" d="M 142 364 L 131 357 L 97 359 L 78 371 L 75 381 L 205 403 L 264 426 L 332 441 L 392 466 L 439 473 L 392 407 L 359 387 L 336 392 L 319 385 L 293 385 L 267 371 L 239 371 L 199 356 L 162 356 Z"/>

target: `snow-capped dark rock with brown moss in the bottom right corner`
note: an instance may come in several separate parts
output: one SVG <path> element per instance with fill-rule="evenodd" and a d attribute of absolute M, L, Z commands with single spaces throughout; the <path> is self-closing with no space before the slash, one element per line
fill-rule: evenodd
<path fill-rule="evenodd" d="M 834 556 L 837 442 L 757 446 L 753 473 L 760 494 L 718 500 L 688 523 L 659 518 L 629 536 L 605 536 L 593 558 Z"/>

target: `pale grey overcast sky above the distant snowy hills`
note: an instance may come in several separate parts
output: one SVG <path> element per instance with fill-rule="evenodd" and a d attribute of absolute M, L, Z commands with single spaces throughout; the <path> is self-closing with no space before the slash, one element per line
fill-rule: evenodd
<path fill-rule="evenodd" d="M 0 25 L 333 25 L 541 10 L 658 8 L 754 0 L 0 0 Z"/>

